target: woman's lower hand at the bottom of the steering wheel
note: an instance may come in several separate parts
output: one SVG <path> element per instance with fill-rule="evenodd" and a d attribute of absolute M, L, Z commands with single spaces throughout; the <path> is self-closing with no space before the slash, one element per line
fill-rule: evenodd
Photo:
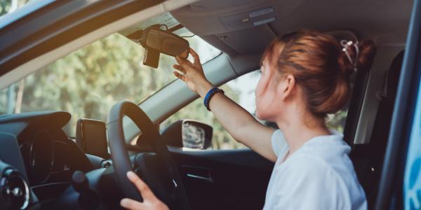
<path fill-rule="evenodd" d="M 139 178 L 133 172 L 127 172 L 127 178 L 135 184 L 138 188 L 140 195 L 143 197 L 143 202 L 138 202 L 131 200 L 129 198 L 124 198 L 121 200 L 120 205 L 126 209 L 154 209 L 154 210 L 168 210 L 166 204 L 161 202 L 155 195 L 152 193 L 152 190 L 146 185 L 142 179 Z"/>

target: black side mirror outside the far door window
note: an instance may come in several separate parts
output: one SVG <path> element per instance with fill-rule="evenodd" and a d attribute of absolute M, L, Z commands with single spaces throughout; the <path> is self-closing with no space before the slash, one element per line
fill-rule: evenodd
<path fill-rule="evenodd" d="M 169 146 L 206 149 L 210 146 L 213 128 L 196 120 L 178 120 L 161 133 Z"/>

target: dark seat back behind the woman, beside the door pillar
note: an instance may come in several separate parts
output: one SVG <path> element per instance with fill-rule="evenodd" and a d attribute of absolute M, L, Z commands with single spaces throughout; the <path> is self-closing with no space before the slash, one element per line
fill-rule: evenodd
<path fill-rule="evenodd" d="M 369 209 L 373 209 L 376 200 L 402 61 L 403 51 L 399 52 L 393 59 L 385 77 L 383 90 L 380 94 L 377 94 L 381 101 L 377 109 L 370 142 L 354 145 L 349 155 L 354 163 L 354 169 L 361 186 L 366 192 Z"/>

